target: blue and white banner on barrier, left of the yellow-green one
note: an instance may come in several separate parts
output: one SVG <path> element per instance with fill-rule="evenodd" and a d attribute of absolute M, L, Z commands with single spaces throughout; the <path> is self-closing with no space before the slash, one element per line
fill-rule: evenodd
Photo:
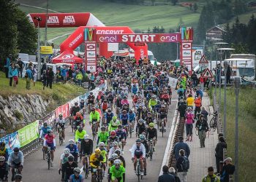
<path fill-rule="evenodd" d="M 12 149 L 14 149 L 16 146 L 20 147 L 18 132 L 12 132 L 11 134 L 4 136 L 4 138 L 0 139 L 0 142 L 3 141 L 7 148 L 8 154 L 10 154 L 12 152 Z"/>

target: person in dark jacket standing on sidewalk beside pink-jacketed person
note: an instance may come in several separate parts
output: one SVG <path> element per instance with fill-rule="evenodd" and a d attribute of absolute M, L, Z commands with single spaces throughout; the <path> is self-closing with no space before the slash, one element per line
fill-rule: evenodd
<path fill-rule="evenodd" d="M 196 130 L 198 130 L 198 137 L 200 139 L 200 147 L 206 147 L 205 141 L 206 141 L 206 132 L 209 130 L 208 123 L 205 119 L 203 119 L 203 114 L 199 116 L 199 119 L 197 119 L 197 123 L 195 124 Z"/>

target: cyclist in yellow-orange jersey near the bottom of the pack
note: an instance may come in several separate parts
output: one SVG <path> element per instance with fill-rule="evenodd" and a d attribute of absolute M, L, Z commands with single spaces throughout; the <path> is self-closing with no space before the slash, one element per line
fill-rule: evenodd
<path fill-rule="evenodd" d="M 102 151 L 100 149 L 95 149 L 94 154 L 91 154 L 90 165 L 91 165 L 91 178 L 93 178 L 94 173 L 97 169 L 102 167 L 102 162 L 104 158 L 101 155 Z"/>

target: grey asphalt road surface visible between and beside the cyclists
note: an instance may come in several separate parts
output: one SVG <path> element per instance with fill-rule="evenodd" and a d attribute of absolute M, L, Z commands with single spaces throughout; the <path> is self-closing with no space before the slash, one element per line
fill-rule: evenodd
<path fill-rule="evenodd" d="M 165 132 L 164 137 L 159 135 L 156 151 L 154 152 L 152 161 L 147 160 L 147 175 L 143 176 L 142 181 L 147 182 L 154 182 L 157 181 L 160 168 L 162 166 L 162 159 L 165 153 L 165 147 L 167 145 L 167 139 L 170 132 L 171 122 L 173 121 L 174 111 L 176 109 L 176 99 L 177 95 L 176 92 L 173 91 L 173 101 L 171 106 L 169 107 L 168 111 L 168 121 L 167 121 L 167 132 Z M 132 105 L 131 105 L 132 106 Z M 89 133 L 91 136 L 91 128 L 89 127 L 89 116 L 86 115 L 86 132 Z M 59 162 L 60 156 L 64 152 L 64 148 L 67 145 L 67 141 L 70 138 L 74 138 L 75 134 L 72 133 L 71 127 L 68 126 L 66 129 L 66 143 L 63 146 L 59 146 L 59 137 L 56 137 L 56 151 L 55 151 L 55 159 L 53 162 L 53 167 L 48 170 L 48 163 L 42 159 L 42 149 L 38 151 L 34 151 L 33 153 L 29 154 L 24 160 L 24 167 L 23 167 L 23 182 L 28 181 L 37 181 L 37 182 L 45 182 L 45 181 L 61 181 L 61 175 L 59 175 Z M 135 143 L 135 132 L 133 132 L 132 138 L 127 139 L 127 145 L 124 146 L 124 159 L 126 160 L 127 167 L 126 167 L 126 181 L 137 181 L 137 176 L 133 170 L 133 164 L 131 160 L 131 153 L 129 149 L 131 149 L 133 143 Z M 94 142 L 94 146 L 96 146 L 96 141 Z M 79 167 L 82 167 L 79 164 Z M 84 175 L 84 173 L 82 173 Z M 91 178 L 91 177 L 90 177 Z M 89 179 L 90 179 L 89 178 Z M 91 181 L 87 179 L 86 181 Z M 107 178 L 104 178 L 104 181 L 107 181 Z"/>

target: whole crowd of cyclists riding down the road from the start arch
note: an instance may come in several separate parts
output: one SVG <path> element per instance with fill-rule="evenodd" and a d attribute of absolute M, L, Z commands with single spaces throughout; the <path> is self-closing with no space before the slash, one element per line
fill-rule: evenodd
<path fill-rule="evenodd" d="M 128 159 L 124 159 L 123 154 L 127 140 L 134 140 L 132 135 L 136 139 L 129 151 L 135 173 L 146 175 L 147 158 L 152 157 L 156 150 L 158 134 L 166 132 L 167 112 L 172 98 L 168 78 L 172 68 L 169 62 L 153 66 L 149 60 L 137 65 L 134 59 L 128 58 L 99 59 L 97 72 L 91 74 L 90 84 L 104 78 L 108 83 L 107 89 L 100 90 L 97 95 L 90 92 L 86 100 L 75 103 L 70 110 L 69 124 L 61 114 L 56 119 L 56 128 L 61 130 L 59 137 L 64 143 L 65 129 L 69 125 L 75 132 L 75 137 L 67 141 L 60 157 L 61 181 L 83 181 L 78 164 L 83 165 L 81 169 L 86 178 L 91 173 L 91 181 L 101 181 L 103 177 L 108 177 L 108 181 L 125 181 L 125 160 Z M 88 115 L 89 121 L 86 121 Z M 85 130 L 87 124 L 91 126 L 91 135 Z M 51 166 L 56 150 L 54 132 L 45 122 L 39 135 L 43 148 L 50 149 Z M 23 167 L 20 152 L 17 148 L 11 154 L 19 156 L 13 157 L 18 173 Z M 0 157 L 0 165 L 1 160 Z M 139 172 L 136 168 L 138 162 Z M 7 176 L 8 173 L 4 177 Z"/>

